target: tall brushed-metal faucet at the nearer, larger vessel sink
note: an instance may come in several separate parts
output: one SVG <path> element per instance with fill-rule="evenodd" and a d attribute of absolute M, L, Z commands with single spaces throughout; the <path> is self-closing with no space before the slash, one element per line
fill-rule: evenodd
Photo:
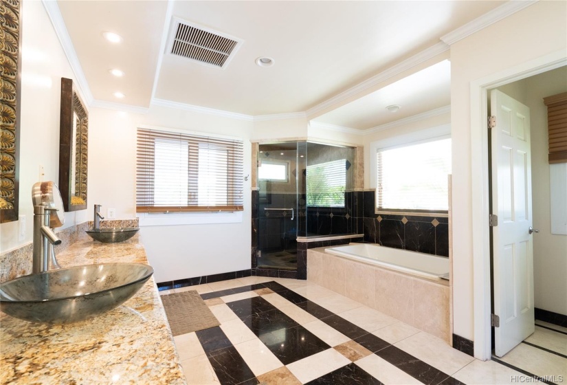
<path fill-rule="evenodd" d="M 49 270 L 49 265 L 59 268 L 55 259 L 53 245 L 58 245 L 61 240 L 55 232 L 49 228 L 49 218 L 51 212 L 57 211 L 56 208 L 46 206 L 34 206 L 34 247 L 32 272 L 44 273 Z"/>

